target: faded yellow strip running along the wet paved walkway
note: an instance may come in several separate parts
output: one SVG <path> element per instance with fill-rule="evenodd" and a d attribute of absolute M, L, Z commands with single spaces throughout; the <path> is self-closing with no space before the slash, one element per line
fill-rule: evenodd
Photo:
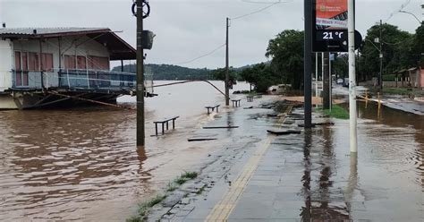
<path fill-rule="evenodd" d="M 293 106 L 287 107 L 284 114 L 289 114 L 292 111 Z M 285 116 L 281 117 L 276 126 L 280 128 L 285 121 Z M 231 185 L 230 189 L 225 193 L 223 199 L 219 201 L 214 209 L 212 209 L 205 219 L 205 221 L 226 221 L 233 209 L 235 208 L 237 201 L 239 200 L 242 192 L 246 188 L 246 185 L 250 181 L 250 177 L 255 172 L 256 168 L 259 166 L 259 161 L 263 158 L 267 149 L 271 145 L 271 141 L 275 139 L 276 135 L 270 134 L 267 136 L 267 141 L 256 150 L 249 161 L 243 166 L 242 172 L 237 176 Z"/>

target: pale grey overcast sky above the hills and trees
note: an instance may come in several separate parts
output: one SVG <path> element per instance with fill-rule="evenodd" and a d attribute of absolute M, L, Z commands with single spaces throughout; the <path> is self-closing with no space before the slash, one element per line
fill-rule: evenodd
<path fill-rule="evenodd" d="M 248 0 L 246 0 L 248 1 Z M 275 0 L 254 0 L 269 3 Z M 238 67 L 266 61 L 270 38 L 282 30 L 303 30 L 303 1 L 284 0 L 261 13 L 233 20 L 230 28 L 230 64 Z M 283 1 L 283 2 L 284 2 Z M 409 2 L 409 4 L 407 4 Z M 0 0 L 0 21 L 8 28 L 17 27 L 107 27 L 135 47 L 136 21 L 131 14 L 132 0 Z M 225 18 L 235 18 L 266 7 L 242 0 L 149 0 L 150 16 L 144 20 L 146 30 L 155 38 L 147 51 L 146 62 L 181 64 L 205 55 L 225 43 Z M 357 30 L 362 35 L 380 19 L 411 33 L 420 20 L 424 0 L 357 0 Z M 393 16 L 391 14 L 393 13 Z M 225 47 L 188 67 L 224 67 Z"/>

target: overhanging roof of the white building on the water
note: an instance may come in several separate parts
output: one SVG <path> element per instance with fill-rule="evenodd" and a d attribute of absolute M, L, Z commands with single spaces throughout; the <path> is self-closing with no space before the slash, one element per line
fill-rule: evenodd
<path fill-rule="evenodd" d="M 136 59 L 136 50 L 108 28 L 4 28 L 0 38 L 59 38 L 88 36 L 107 47 L 111 60 Z"/>

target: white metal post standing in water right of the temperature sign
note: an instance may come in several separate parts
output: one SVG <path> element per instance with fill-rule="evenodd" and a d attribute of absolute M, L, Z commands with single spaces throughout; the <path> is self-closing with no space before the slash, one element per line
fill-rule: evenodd
<path fill-rule="evenodd" d="M 356 61 L 355 61 L 355 8 L 354 0 L 348 1 L 347 20 L 349 32 L 349 115 L 351 152 L 358 152 L 356 122 Z"/>

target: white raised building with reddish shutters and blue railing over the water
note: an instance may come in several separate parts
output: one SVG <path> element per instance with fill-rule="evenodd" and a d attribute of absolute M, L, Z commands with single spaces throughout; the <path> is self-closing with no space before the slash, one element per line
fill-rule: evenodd
<path fill-rule="evenodd" d="M 135 58 L 109 29 L 0 29 L 0 109 L 130 95 L 135 74 L 111 72 L 110 61 Z"/>

